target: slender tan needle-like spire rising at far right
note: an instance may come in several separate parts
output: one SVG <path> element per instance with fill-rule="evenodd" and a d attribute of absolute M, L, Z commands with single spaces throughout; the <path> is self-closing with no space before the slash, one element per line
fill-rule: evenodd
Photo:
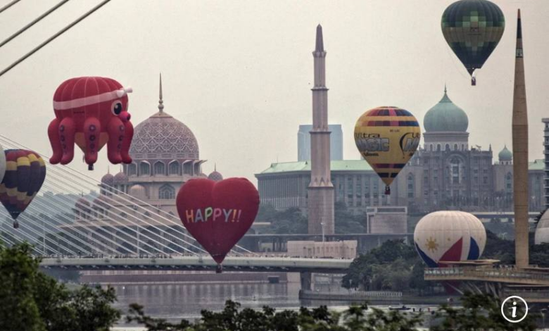
<path fill-rule="evenodd" d="M 515 200 L 515 259 L 517 268 L 529 265 L 528 252 L 528 111 L 522 53 L 520 9 L 517 19 L 517 53 L 515 54 L 515 90 L 512 115 L 513 195 Z"/>

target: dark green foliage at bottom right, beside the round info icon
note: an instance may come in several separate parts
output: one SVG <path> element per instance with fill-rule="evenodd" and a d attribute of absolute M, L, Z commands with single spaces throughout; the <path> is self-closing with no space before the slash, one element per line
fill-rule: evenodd
<path fill-rule="evenodd" d="M 431 327 L 431 331 L 446 330 L 536 330 L 537 314 L 529 313 L 519 323 L 509 323 L 501 315 L 501 301 L 484 294 L 466 293 L 461 298 L 463 308 L 443 305 L 436 312 L 441 323 Z"/>

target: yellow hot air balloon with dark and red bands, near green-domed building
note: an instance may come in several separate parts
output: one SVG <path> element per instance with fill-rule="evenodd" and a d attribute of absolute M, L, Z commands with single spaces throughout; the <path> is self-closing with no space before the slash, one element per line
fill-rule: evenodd
<path fill-rule="evenodd" d="M 389 185 L 414 155 L 420 137 L 414 115 L 398 107 L 370 109 L 358 118 L 355 144 L 386 184 L 385 194 L 391 194 Z"/>

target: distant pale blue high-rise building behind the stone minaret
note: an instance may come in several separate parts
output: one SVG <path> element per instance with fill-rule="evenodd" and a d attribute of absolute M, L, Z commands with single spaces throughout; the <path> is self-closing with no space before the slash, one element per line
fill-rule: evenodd
<path fill-rule="evenodd" d="M 313 125 L 299 125 L 298 131 L 298 161 L 310 160 L 310 131 Z M 343 131 L 341 124 L 328 125 L 330 133 L 330 160 L 343 160 Z"/>

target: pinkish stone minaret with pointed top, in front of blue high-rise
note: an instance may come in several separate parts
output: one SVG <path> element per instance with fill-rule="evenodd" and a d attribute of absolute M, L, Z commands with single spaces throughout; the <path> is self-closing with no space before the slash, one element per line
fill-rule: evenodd
<path fill-rule="evenodd" d="M 322 26 L 317 26 L 313 87 L 313 130 L 310 131 L 311 171 L 308 188 L 309 233 L 334 233 L 334 185 L 330 179 L 330 131 L 328 130 L 328 89 L 326 87 L 326 51 Z"/>

